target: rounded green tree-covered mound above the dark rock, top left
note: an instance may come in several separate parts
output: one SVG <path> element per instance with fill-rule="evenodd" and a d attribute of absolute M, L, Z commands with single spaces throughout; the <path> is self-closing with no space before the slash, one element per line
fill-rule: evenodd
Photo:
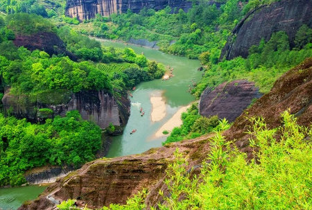
<path fill-rule="evenodd" d="M 17 13 L 6 16 L 6 25 L 16 34 L 31 35 L 34 33 L 55 33 L 56 29 L 48 19 L 39 15 Z"/>

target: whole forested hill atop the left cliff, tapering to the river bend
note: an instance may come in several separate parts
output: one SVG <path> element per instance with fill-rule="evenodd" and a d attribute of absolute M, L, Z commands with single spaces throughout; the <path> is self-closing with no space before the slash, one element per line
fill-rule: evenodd
<path fill-rule="evenodd" d="M 37 15 L 17 13 L 0 19 L 0 67 L 3 83 L 12 87 L 15 94 L 36 94 L 42 90 L 68 89 L 73 92 L 89 89 L 127 89 L 141 81 L 160 78 L 164 67 L 150 62 L 144 55 L 132 49 L 102 48 L 99 42 L 90 40 L 64 27 L 56 28 L 47 19 Z M 28 51 L 17 48 L 10 40 L 15 34 L 31 35 L 37 32 L 58 33 L 67 44 L 67 49 L 80 58 L 73 62 L 59 55 L 50 57 L 44 51 Z M 97 64 L 95 62 L 103 62 Z M 106 72 L 107 64 L 111 72 Z M 119 64 L 116 69 L 112 64 Z"/>

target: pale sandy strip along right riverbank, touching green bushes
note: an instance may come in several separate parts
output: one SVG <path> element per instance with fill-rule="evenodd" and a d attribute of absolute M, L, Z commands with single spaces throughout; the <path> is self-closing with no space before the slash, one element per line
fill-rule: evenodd
<path fill-rule="evenodd" d="M 166 123 L 164 123 L 164 125 L 162 125 L 161 128 L 159 128 L 159 130 L 157 130 L 157 132 L 155 133 L 155 137 L 156 138 L 164 137 L 166 136 L 165 134 L 162 133 L 164 130 L 171 132 L 173 128 L 182 125 L 181 114 L 182 112 L 187 112 L 187 109 L 189 107 L 190 105 L 186 107 L 181 107 L 179 110 L 177 110 L 177 112 L 171 117 L 171 119 L 169 119 Z"/>

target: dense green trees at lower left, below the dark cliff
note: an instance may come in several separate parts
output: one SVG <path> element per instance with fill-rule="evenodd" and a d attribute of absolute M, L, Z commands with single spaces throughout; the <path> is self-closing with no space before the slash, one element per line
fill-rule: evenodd
<path fill-rule="evenodd" d="M 25 170 L 51 164 L 80 166 L 101 147 L 101 128 L 83 121 L 78 111 L 44 124 L 0 114 L 0 186 L 26 182 Z"/>

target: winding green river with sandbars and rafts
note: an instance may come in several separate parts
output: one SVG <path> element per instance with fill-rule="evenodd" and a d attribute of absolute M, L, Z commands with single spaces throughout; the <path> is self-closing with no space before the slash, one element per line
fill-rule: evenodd
<path fill-rule="evenodd" d="M 192 84 L 192 79 L 198 82 L 201 78 L 202 73 L 197 71 L 198 67 L 200 67 L 200 62 L 132 44 L 108 40 L 98 41 L 104 46 L 131 47 L 138 54 L 144 53 L 149 60 L 155 60 L 163 63 L 165 66 L 172 67 L 174 69 L 173 75 L 175 75 L 170 80 L 153 80 L 137 85 L 135 91 L 132 92 L 133 98 L 130 98 L 131 114 L 128 124 L 125 126 L 123 135 L 114 137 L 112 140 L 107 157 L 132 155 L 145 152 L 150 148 L 162 146 L 162 142 L 166 140 L 166 137 L 156 138 L 154 134 L 168 119 L 171 119 L 180 107 L 189 105 L 189 103 L 195 100 L 189 94 L 188 89 L 189 85 Z M 150 116 L 152 111 L 150 96 L 159 95 L 162 95 L 166 101 L 166 116 L 161 121 L 152 122 Z M 144 116 L 141 116 L 139 113 L 140 107 L 143 107 L 146 113 Z M 130 134 L 133 129 L 137 129 L 137 132 Z M 44 189 L 42 186 L 0 189 L 0 210 L 17 209 L 24 201 L 36 198 Z"/>

